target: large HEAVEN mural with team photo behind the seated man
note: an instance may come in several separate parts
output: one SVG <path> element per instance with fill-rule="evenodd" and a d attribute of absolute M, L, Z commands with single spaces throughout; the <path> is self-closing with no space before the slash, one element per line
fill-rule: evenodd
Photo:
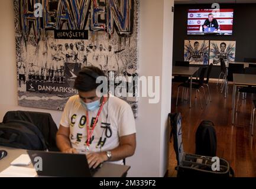
<path fill-rule="evenodd" d="M 83 66 L 137 76 L 138 0 L 14 0 L 14 11 L 19 105 L 63 110 Z M 135 93 L 122 99 L 136 117 Z"/>

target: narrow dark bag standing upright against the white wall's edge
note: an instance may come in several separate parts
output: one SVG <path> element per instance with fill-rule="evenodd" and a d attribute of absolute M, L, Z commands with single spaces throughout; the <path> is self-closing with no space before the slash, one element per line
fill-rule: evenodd
<path fill-rule="evenodd" d="M 184 154 L 182 144 L 182 115 L 180 113 L 169 113 L 168 121 L 171 127 L 170 142 L 173 141 L 173 148 L 176 153 L 177 164 L 180 165 Z"/>

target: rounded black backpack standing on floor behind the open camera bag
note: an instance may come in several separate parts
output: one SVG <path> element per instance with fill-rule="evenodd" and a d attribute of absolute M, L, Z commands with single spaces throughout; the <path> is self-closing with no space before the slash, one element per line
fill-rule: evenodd
<path fill-rule="evenodd" d="M 203 120 L 196 130 L 196 154 L 215 157 L 217 138 L 213 122 Z"/>

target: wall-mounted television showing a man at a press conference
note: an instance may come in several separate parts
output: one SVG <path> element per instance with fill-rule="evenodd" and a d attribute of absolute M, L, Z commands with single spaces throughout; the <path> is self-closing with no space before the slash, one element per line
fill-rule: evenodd
<path fill-rule="evenodd" d="M 232 35 L 234 9 L 189 9 L 188 35 Z"/>

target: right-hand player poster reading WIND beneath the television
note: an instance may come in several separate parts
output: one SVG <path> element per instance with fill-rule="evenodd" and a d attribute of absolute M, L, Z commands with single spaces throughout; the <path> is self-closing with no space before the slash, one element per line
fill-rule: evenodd
<path fill-rule="evenodd" d="M 235 61 L 235 41 L 210 41 L 210 64 L 221 65 L 221 58 L 224 61 Z"/>

